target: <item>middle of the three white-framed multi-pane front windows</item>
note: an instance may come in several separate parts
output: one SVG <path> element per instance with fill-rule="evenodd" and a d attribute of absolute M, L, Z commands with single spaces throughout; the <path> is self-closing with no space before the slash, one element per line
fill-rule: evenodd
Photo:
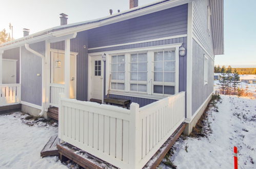
<path fill-rule="evenodd" d="M 130 91 L 147 92 L 147 53 L 130 55 Z"/>

